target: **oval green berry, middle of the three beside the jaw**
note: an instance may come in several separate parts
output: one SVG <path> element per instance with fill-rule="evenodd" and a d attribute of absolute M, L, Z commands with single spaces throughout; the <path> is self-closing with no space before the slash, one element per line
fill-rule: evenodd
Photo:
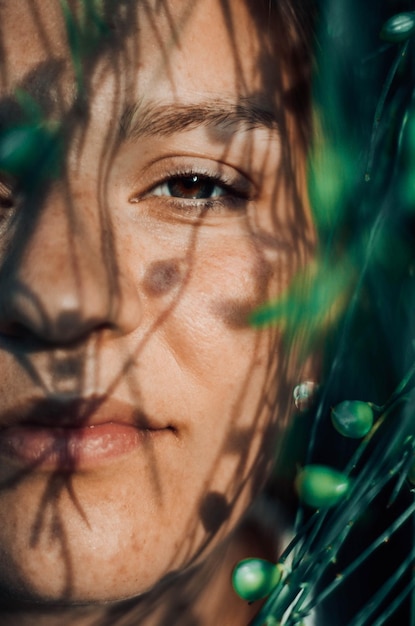
<path fill-rule="evenodd" d="M 298 474 L 295 485 L 305 504 L 315 509 L 328 509 L 344 498 L 350 480 L 325 465 L 306 465 Z"/>

